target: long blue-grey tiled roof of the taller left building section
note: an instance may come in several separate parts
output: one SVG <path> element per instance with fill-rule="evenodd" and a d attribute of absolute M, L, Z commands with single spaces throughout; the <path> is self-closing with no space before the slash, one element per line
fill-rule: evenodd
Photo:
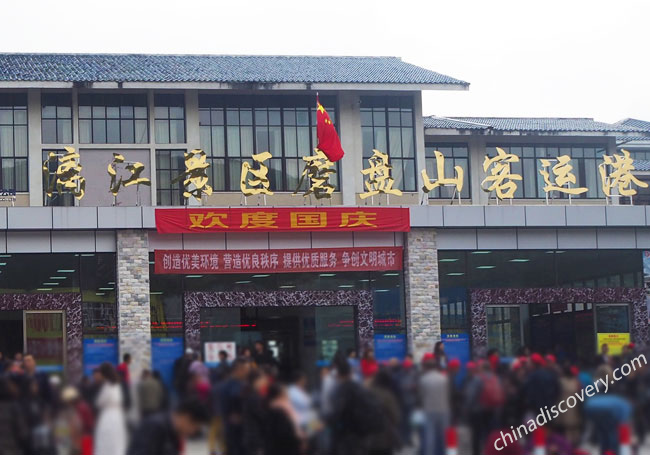
<path fill-rule="evenodd" d="M 453 84 L 397 57 L 0 54 L 0 81 Z"/>

